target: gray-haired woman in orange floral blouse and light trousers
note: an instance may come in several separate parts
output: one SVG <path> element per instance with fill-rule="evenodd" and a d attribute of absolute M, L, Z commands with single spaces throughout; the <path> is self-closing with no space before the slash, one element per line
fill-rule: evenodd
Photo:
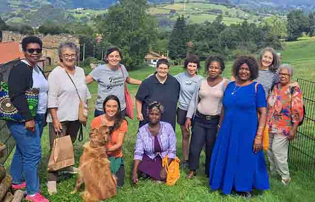
<path fill-rule="evenodd" d="M 303 119 L 302 92 L 292 84 L 293 68 L 289 64 L 279 67 L 279 84 L 268 97 L 268 160 L 271 175 L 279 174 L 284 185 L 291 181 L 287 158 L 289 141 L 294 140 Z"/>

